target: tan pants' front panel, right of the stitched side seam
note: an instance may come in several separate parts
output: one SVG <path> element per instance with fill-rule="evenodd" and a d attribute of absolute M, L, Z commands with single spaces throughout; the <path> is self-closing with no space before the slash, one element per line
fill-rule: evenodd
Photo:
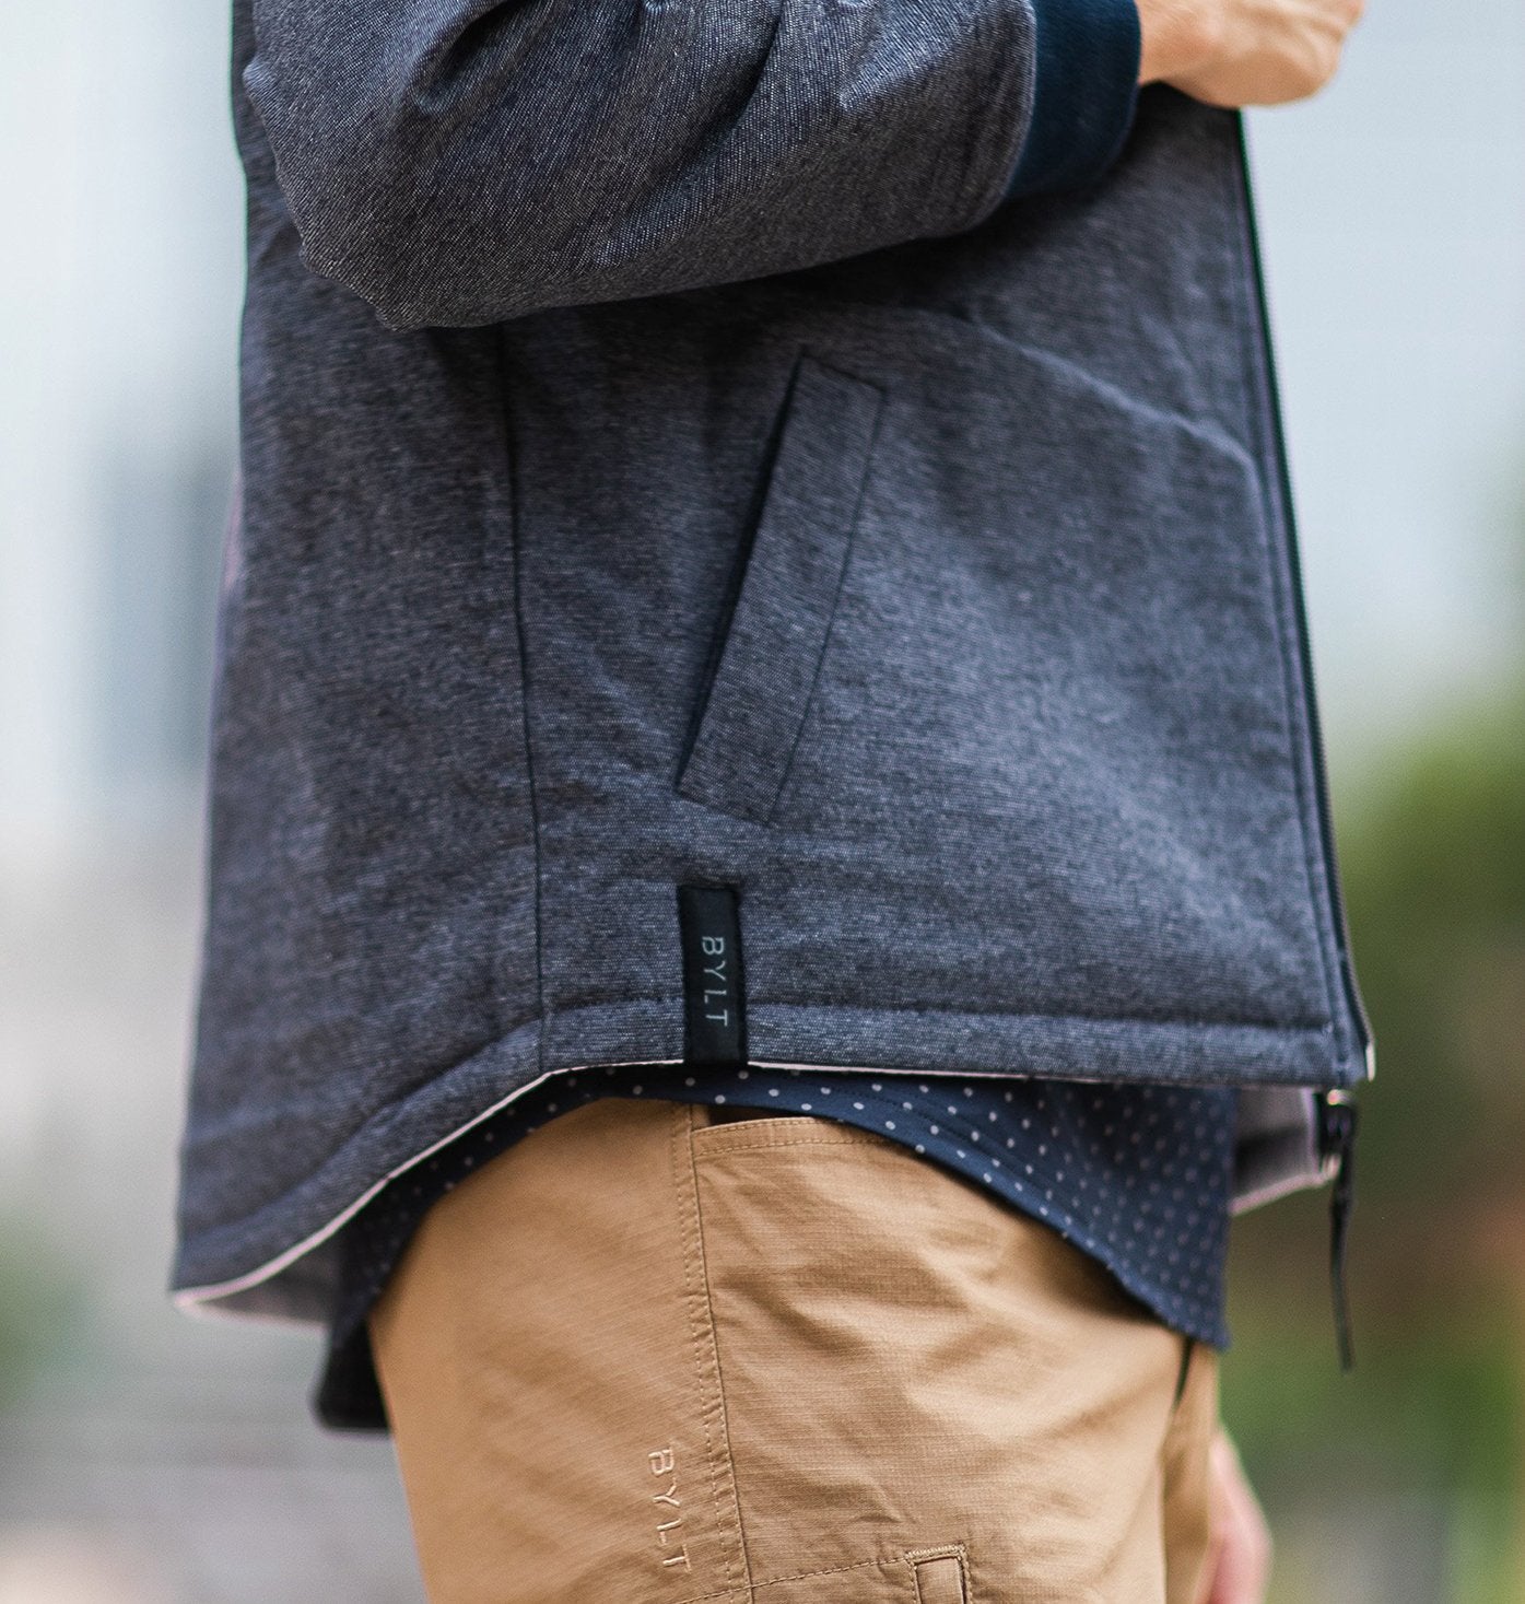
<path fill-rule="evenodd" d="M 691 1136 L 754 1588 L 1164 1604 L 1174 1331 L 1047 1225 L 874 1132 Z"/>

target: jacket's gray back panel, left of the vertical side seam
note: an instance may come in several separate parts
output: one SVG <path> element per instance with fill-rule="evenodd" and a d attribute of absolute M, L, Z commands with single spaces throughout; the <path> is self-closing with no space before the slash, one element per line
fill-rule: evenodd
<path fill-rule="evenodd" d="M 181 1280 L 279 1200 L 348 1205 L 409 1099 L 518 1031 L 536 885 L 496 345 L 313 277 L 245 124 L 242 508 L 228 550 Z M 463 1123 L 500 1091 L 449 1081 Z M 327 1216 L 322 1216 L 327 1217 Z M 221 1235 L 218 1235 L 221 1233 Z"/>

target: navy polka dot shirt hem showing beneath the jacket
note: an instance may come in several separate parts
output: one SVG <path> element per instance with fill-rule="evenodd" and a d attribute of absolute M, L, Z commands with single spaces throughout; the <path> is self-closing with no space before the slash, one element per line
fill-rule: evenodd
<path fill-rule="evenodd" d="M 385 1429 L 366 1315 L 428 1206 L 558 1113 L 593 1097 L 665 1097 L 824 1115 L 904 1142 L 1094 1254 L 1166 1325 L 1225 1347 L 1233 1185 L 1232 1086 L 874 1070 L 614 1065 L 556 1075 L 414 1165 L 340 1237 L 329 1352 L 314 1408 Z"/>

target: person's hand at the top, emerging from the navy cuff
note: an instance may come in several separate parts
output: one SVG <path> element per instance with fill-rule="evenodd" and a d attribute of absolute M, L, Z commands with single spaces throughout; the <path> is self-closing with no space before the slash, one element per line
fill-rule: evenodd
<path fill-rule="evenodd" d="M 1139 0 L 1140 83 L 1209 106 L 1280 106 L 1321 90 L 1365 0 Z"/>

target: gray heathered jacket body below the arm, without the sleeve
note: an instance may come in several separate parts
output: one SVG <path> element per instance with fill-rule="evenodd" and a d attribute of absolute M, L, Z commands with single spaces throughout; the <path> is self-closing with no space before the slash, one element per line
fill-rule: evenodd
<path fill-rule="evenodd" d="M 741 890 L 762 1062 L 1361 1078 L 1232 117 L 1145 91 L 1105 183 L 957 237 L 404 334 L 241 138 L 178 1286 L 321 1314 L 390 1174 L 680 1059 L 682 881 Z"/>

